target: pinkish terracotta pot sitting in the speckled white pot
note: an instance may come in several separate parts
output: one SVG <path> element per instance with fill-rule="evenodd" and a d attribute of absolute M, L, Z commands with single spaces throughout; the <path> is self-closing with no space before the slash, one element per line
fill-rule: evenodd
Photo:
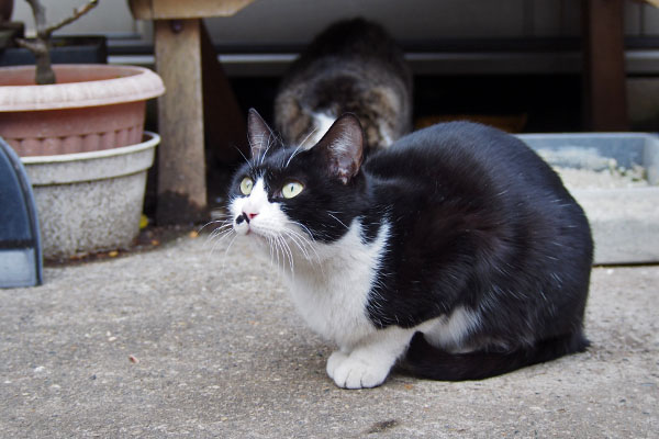
<path fill-rule="evenodd" d="M 0 68 L 0 136 L 20 156 L 74 154 L 142 142 L 146 100 L 165 92 L 134 66 L 56 65 L 57 83 L 34 85 L 34 67 Z"/>

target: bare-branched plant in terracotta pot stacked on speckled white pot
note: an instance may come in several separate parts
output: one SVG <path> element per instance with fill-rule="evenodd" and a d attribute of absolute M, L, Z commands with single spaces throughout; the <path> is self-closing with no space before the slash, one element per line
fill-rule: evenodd
<path fill-rule="evenodd" d="M 47 24 L 40 0 L 26 1 L 37 36 L 18 44 L 34 52 L 36 67 L 0 67 L 0 136 L 32 181 L 44 257 L 127 247 L 138 233 L 159 139 L 143 138 L 146 100 L 165 92 L 163 81 L 135 66 L 51 66 L 53 32 L 98 0 L 55 24 Z"/>

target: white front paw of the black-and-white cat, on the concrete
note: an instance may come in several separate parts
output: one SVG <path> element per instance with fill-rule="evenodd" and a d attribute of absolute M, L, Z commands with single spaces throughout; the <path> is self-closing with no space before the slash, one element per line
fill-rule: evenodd
<path fill-rule="evenodd" d="M 336 351 L 327 360 L 327 374 L 343 389 L 377 387 L 387 380 L 391 368 L 376 360 Z"/>

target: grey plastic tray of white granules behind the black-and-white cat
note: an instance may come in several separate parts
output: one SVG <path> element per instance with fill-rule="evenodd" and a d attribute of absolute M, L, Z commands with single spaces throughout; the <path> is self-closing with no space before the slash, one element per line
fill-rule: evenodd
<path fill-rule="evenodd" d="M 645 168 L 648 187 L 571 189 L 585 210 L 595 263 L 659 261 L 659 137 L 641 133 L 520 135 L 552 166 L 606 171 Z M 611 165 L 608 165 L 611 166 Z"/>

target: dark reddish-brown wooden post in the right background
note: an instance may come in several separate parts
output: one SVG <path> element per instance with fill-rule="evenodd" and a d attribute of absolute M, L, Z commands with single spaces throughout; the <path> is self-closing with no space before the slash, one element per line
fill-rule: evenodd
<path fill-rule="evenodd" d="M 623 0 L 582 0 L 583 110 L 591 131 L 628 131 Z"/>

